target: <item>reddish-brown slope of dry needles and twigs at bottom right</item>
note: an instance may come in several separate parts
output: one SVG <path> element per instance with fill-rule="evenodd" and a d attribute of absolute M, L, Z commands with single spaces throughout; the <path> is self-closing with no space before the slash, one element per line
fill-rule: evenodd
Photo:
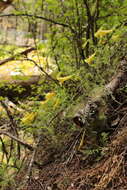
<path fill-rule="evenodd" d="M 101 153 L 78 151 L 81 135 L 72 135 L 67 148 L 47 157 L 47 163 L 36 172 L 22 190 L 124 190 L 127 189 L 127 100 L 118 90 L 108 103 L 108 125 L 111 131 Z M 79 135 L 78 135 L 79 134 Z M 85 143 L 85 146 L 87 146 Z M 55 156 L 54 156 L 55 154 Z M 41 157 L 44 160 L 44 156 Z"/>

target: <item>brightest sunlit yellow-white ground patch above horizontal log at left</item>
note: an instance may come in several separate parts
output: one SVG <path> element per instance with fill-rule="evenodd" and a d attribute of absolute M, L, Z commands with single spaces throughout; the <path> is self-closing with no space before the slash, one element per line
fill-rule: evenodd
<path fill-rule="evenodd" d="M 48 74 L 56 69 L 53 60 L 50 57 L 42 57 L 37 51 L 28 54 L 27 58 L 18 58 L 19 60 L 9 61 L 0 66 L 0 78 L 9 80 L 13 76 L 33 76 L 44 74 L 40 67 Z M 27 60 L 28 59 L 28 60 Z"/>

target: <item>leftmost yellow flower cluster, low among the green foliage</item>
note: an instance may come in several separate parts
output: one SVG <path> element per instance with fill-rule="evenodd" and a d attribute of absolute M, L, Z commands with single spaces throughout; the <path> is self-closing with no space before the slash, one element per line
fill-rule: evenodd
<path fill-rule="evenodd" d="M 35 120 L 36 116 L 37 113 L 26 113 L 21 121 L 23 124 L 29 125 Z"/>

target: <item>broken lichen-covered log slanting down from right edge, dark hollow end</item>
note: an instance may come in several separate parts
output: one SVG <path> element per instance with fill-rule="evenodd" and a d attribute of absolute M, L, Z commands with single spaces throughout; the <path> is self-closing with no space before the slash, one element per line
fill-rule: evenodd
<path fill-rule="evenodd" d="M 87 104 L 79 109 L 73 116 L 73 121 L 76 125 L 85 127 L 89 124 L 93 115 L 99 112 L 102 102 L 108 96 L 113 96 L 114 92 L 126 84 L 127 82 L 127 62 L 122 60 L 118 73 L 113 77 L 113 79 L 99 91 L 94 97 L 91 97 Z M 96 118 L 96 117 L 95 117 Z"/>

